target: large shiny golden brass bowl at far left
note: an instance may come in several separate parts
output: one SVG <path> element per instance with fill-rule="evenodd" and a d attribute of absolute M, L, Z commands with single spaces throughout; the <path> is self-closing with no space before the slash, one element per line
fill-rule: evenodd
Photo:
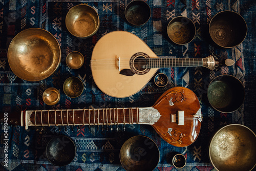
<path fill-rule="evenodd" d="M 8 62 L 13 73 L 27 81 L 39 81 L 59 67 L 58 41 L 48 31 L 32 28 L 18 33 L 8 48 Z"/>

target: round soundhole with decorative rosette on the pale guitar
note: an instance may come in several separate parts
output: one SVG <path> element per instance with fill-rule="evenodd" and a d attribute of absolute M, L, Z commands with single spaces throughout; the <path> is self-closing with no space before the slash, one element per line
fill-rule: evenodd
<path fill-rule="evenodd" d="M 150 57 L 143 52 L 134 54 L 130 59 L 132 72 L 138 75 L 143 75 L 150 71 L 150 68 L 147 67 L 148 59 L 150 59 Z"/>

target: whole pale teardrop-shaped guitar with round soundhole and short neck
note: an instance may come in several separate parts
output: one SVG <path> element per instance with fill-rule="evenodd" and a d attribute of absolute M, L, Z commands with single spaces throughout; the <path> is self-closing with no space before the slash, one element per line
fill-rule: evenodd
<path fill-rule="evenodd" d="M 158 57 L 143 40 L 126 31 L 101 37 L 92 52 L 91 70 L 96 86 L 112 97 L 140 91 L 160 68 L 206 67 L 218 70 L 217 55 L 206 58 Z"/>

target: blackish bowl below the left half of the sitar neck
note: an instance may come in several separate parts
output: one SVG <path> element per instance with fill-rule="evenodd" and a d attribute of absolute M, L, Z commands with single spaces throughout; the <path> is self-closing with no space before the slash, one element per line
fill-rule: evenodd
<path fill-rule="evenodd" d="M 46 146 L 47 159 L 54 165 L 66 166 L 76 155 L 74 141 L 65 135 L 53 137 Z"/>

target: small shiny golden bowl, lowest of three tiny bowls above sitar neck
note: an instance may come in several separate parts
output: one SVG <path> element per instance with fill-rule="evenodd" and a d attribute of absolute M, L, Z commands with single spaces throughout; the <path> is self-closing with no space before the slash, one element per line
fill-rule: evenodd
<path fill-rule="evenodd" d="M 44 100 L 47 105 L 54 105 L 59 102 L 59 99 L 60 93 L 55 88 L 48 88 L 45 90 L 44 94 L 42 94 L 42 100 Z"/>

